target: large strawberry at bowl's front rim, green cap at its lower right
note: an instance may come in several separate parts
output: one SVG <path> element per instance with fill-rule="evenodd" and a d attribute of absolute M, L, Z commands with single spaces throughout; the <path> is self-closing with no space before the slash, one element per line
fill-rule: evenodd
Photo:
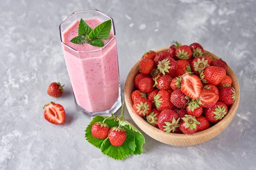
<path fill-rule="evenodd" d="M 175 111 L 166 109 L 158 116 L 158 127 L 166 133 L 174 132 L 179 127 L 180 117 Z"/>

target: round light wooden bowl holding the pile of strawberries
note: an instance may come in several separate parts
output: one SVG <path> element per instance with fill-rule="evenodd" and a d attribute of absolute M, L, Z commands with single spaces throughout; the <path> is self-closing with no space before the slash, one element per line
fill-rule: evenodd
<path fill-rule="evenodd" d="M 161 51 L 168 51 L 168 49 L 169 49 L 169 46 L 165 47 L 165 48 L 157 49 L 157 50 L 155 50 L 155 52 L 160 53 Z M 204 53 L 207 54 L 208 51 L 204 51 Z M 219 59 L 219 57 L 215 56 L 214 54 L 212 54 L 212 53 L 209 53 L 209 54 L 214 59 Z M 208 128 L 207 130 L 203 130 L 201 132 L 197 132 L 192 135 L 179 134 L 179 133 L 166 133 L 166 132 L 163 132 L 162 130 L 150 125 L 141 116 L 138 116 L 134 112 L 133 103 L 131 100 L 131 93 L 134 91 L 134 78 L 138 74 L 139 62 L 140 62 L 140 60 L 133 66 L 133 68 L 131 69 L 131 71 L 128 74 L 128 77 L 126 79 L 125 103 L 126 103 L 128 111 L 131 115 L 131 118 L 140 127 L 140 129 L 143 130 L 143 132 L 145 132 L 151 138 L 154 138 L 159 142 L 176 145 L 176 146 L 190 146 L 190 145 L 200 144 L 200 143 L 206 142 L 206 141 L 214 138 L 219 133 L 221 133 L 221 131 L 224 130 L 228 124 L 230 124 L 231 120 L 235 116 L 236 110 L 239 105 L 240 90 L 239 90 L 239 83 L 236 78 L 236 75 L 234 74 L 232 69 L 230 67 L 228 67 L 227 75 L 229 75 L 232 78 L 233 88 L 236 89 L 236 101 L 230 107 L 227 115 L 223 119 L 221 119 L 220 122 L 218 122 L 217 124 Z"/>

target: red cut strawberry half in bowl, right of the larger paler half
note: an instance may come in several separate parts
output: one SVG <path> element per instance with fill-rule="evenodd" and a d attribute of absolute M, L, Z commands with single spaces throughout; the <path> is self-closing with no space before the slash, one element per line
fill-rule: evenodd
<path fill-rule="evenodd" d="M 218 99 L 218 94 L 215 94 L 213 90 L 202 89 L 201 95 L 198 99 L 198 103 L 204 108 L 210 108 L 214 106 L 216 102 L 218 102 Z"/>

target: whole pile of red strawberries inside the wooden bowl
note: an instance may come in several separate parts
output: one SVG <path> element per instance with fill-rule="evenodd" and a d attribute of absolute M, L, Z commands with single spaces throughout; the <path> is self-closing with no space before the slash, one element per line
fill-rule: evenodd
<path fill-rule="evenodd" d="M 192 134 L 219 122 L 236 100 L 227 63 L 198 43 L 146 52 L 131 94 L 134 111 L 166 133 Z"/>

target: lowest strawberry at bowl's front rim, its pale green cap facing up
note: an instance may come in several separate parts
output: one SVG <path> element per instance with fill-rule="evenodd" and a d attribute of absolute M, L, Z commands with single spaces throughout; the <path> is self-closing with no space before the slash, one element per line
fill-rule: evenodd
<path fill-rule="evenodd" d="M 200 125 L 200 122 L 195 119 L 195 116 L 186 114 L 185 117 L 181 119 L 180 130 L 187 135 L 195 133 L 197 130 L 197 125 Z"/>

